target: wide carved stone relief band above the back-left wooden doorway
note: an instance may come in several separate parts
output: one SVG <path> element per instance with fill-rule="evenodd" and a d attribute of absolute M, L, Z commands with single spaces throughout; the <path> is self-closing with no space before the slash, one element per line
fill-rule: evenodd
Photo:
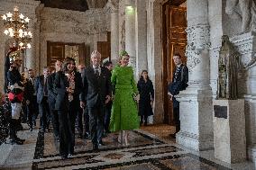
<path fill-rule="evenodd" d="M 46 8 L 41 13 L 41 32 L 65 32 L 77 35 L 106 32 L 110 30 L 110 22 L 107 22 L 109 14 L 106 14 L 103 9 L 81 13 Z"/>

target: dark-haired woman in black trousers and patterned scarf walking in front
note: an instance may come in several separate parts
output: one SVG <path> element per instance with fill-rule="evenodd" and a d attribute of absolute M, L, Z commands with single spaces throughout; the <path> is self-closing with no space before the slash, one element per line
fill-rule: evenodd
<path fill-rule="evenodd" d="M 82 89 L 81 76 L 73 58 L 65 58 L 62 70 L 56 68 L 54 88 L 57 92 L 55 109 L 59 114 L 59 155 L 67 158 L 74 155 L 75 121 Z"/>

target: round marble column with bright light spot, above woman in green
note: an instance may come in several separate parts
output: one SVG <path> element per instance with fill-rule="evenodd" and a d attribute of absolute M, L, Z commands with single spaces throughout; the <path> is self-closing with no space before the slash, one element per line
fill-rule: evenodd
<path fill-rule="evenodd" d="M 125 50 L 130 55 L 130 66 L 136 67 L 135 6 L 134 0 L 125 1 Z"/>

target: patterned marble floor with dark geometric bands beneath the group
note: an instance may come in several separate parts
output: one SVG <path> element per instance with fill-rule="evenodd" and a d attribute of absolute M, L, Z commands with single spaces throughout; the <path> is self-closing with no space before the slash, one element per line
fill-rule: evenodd
<path fill-rule="evenodd" d="M 151 127 L 153 130 L 161 129 Z M 148 132 L 147 132 L 148 131 Z M 210 161 L 181 148 L 172 140 L 161 139 L 149 128 L 130 133 L 130 145 L 117 142 L 117 134 L 112 133 L 104 139 L 105 146 L 98 152 L 92 150 L 92 143 L 86 139 L 76 139 L 75 155 L 62 160 L 59 157 L 59 143 L 52 132 L 40 133 L 38 130 L 23 130 L 20 136 L 26 138 L 25 145 L 0 147 L 5 161 L 0 157 L 0 169 L 82 169 L 82 170 L 229 170 L 224 164 Z M 154 133 L 154 132 L 153 132 Z M 163 134 L 163 133 L 161 133 Z M 9 147 L 9 148 L 8 148 Z M 3 156 L 2 156 L 2 159 Z M 248 168 L 247 168 L 248 167 Z M 242 169 L 252 170 L 252 166 Z"/>

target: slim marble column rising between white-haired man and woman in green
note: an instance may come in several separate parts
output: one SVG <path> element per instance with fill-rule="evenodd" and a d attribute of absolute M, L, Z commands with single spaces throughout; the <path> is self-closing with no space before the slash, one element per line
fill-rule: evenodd
<path fill-rule="evenodd" d="M 119 56 L 118 6 L 111 7 L 111 60 L 115 64 Z"/>

